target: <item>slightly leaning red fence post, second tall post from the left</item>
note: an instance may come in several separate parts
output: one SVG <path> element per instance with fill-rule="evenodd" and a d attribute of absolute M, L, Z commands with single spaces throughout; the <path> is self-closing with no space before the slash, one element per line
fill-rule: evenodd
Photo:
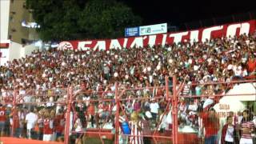
<path fill-rule="evenodd" d="M 66 104 L 67 104 L 67 110 L 66 110 L 66 125 L 65 125 L 65 138 L 64 143 L 68 144 L 70 141 L 70 110 L 71 110 L 71 104 L 72 104 L 72 93 L 73 91 L 71 86 L 67 88 L 67 96 L 66 96 Z"/>

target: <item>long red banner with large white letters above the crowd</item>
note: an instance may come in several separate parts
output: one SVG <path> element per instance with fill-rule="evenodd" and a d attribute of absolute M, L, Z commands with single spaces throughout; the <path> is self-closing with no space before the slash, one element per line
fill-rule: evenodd
<path fill-rule="evenodd" d="M 221 26 L 211 26 L 198 30 L 183 31 L 177 33 L 155 34 L 141 37 L 118 38 L 118 39 L 98 39 L 98 40 L 76 40 L 61 42 L 58 46 L 62 49 L 78 49 L 78 50 L 109 50 L 132 48 L 134 46 L 153 46 L 172 44 L 174 42 L 205 42 L 210 38 L 221 38 L 240 34 L 252 34 L 256 30 L 256 20 L 247 22 L 226 24 Z"/>

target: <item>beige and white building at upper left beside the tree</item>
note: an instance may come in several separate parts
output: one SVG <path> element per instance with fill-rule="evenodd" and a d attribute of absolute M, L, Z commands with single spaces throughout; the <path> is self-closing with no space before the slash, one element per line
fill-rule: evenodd
<path fill-rule="evenodd" d="M 31 22 L 34 20 L 26 0 L 0 0 L 0 66 L 38 49 L 34 45 L 38 34 L 29 27 Z"/>

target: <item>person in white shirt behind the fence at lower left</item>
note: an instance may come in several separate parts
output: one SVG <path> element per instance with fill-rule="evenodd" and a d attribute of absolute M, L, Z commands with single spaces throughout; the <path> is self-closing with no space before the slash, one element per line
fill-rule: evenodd
<path fill-rule="evenodd" d="M 31 130 L 34 128 L 35 122 L 38 120 L 38 115 L 34 114 L 34 109 L 30 108 L 30 113 L 26 114 L 26 134 L 29 139 L 31 139 Z"/>

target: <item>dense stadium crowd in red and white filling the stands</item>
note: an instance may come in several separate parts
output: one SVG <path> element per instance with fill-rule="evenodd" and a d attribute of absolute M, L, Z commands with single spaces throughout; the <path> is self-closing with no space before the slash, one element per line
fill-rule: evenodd
<path fill-rule="evenodd" d="M 131 115 L 138 113 L 138 117 L 131 119 L 143 121 L 150 118 L 153 130 L 159 119 L 164 119 L 159 130 L 169 130 L 171 122 L 165 119 L 170 114 L 164 114 L 167 106 L 165 77 L 174 75 L 179 83 L 186 82 L 181 95 L 209 96 L 198 97 L 196 100 L 179 99 L 179 123 L 198 126 L 196 117 L 200 115 L 198 107 L 201 102 L 210 102 L 213 106 L 218 98 L 211 96 L 225 93 L 229 86 L 191 84 L 231 82 L 254 75 L 255 42 L 254 35 L 242 34 L 239 37 L 213 38 L 206 42 L 182 42 L 152 48 L 137 46 L 106 51 L 34 51 L 26 58 L 15 59 L 0 67 L 0 110 L 5 110 L 6 115 L 5 118 L 0 116 L 0 131 L 8 135 L 10 127 L 15 125 L 14 135 L 19 138 L 53 140 L 52 134 L 61 138 L 65 124 L 67 86 L 73 86 L 76 91 L 73 112 L 78 113 L 78 118 L 73 118 L 74 131 L 102 127 L 102 119 L 106 119 L 110 127 L 113 127 L 116 106 L 113 101 L 104 99 L 114 100 L 114 82 L 118 82 L 120 91 L 126 88 L 137 89 L 128 90 L 122 95 L 123 118 L 126 115 L 130 119 Z M 15 94 L 18 106 L 12 109 Z M 100 101 L 92 102 L 92 99 Z M 170 106 L 167 108 L 170 110 Z M 13 121 L 14 117 L 17 117 L 17 122 Z M 252 130 L 254 125 L 252 123 L 250 126 Z M 31 130 L 36 132 L 31 135 Z M 245 138 L 248 138 L 246 134 Z"/>

